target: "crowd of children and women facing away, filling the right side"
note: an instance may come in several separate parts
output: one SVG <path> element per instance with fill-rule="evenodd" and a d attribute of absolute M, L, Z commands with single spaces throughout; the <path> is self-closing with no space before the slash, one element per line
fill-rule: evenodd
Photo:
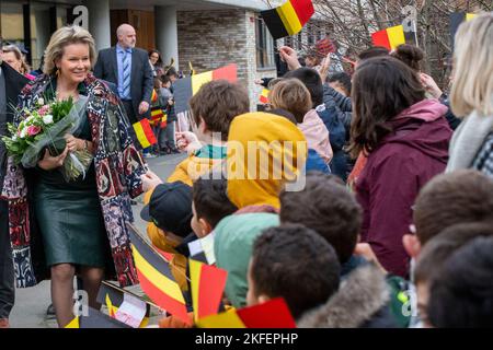
<path fill-rule="evenodd" d="M 363 51 L 351 79 L 283 47 L 266 112 L 239 84 L 204 84 L 187 159 L 142 176 L 182 290 L 187 243 L 213 235 L 234 308 L 280 296 L 298 327 L 491 327 L 492 44 L 493 14 L 460 26 L 450 98 L 409 45 Z"/>

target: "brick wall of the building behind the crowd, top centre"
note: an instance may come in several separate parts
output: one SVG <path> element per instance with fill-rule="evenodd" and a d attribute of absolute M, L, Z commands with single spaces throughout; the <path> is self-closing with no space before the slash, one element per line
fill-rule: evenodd
<path fill-rule="evenodd" d="M 251 109 L 255 109 L 260 77 L 275 77 L 275 69 L 257 72 L 254 12 L 245 10 L 181 11 L 177 13 L 180 69 L 188 71 L 188 61 L 197 72 L 237 63 L 239 82 L 249 90 Z"/>

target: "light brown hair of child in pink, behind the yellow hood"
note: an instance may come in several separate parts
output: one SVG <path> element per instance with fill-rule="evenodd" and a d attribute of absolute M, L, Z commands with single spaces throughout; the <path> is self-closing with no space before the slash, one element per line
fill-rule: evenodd
<path fill-rule="evenodd" d="M 298 124 L 303 122 L 305 115 L 312 107 L 310 92 L 296 78 L 276 82 L 268 93 L 268 101 L 274 108 L 291 113 Z"/>

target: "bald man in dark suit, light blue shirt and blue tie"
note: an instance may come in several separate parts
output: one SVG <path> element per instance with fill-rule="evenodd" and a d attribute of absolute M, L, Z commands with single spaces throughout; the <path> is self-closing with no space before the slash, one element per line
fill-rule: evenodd
<path fill-rule="evenodd" d="M 152 69 L 147 51 L 135 47 L 136 33 L 131 25 L 118 26 L 116 36 L 116 46 L 99 52 L 94 75 L 116 84 L 128 119 L 134 124 L 150 118 Z"/>

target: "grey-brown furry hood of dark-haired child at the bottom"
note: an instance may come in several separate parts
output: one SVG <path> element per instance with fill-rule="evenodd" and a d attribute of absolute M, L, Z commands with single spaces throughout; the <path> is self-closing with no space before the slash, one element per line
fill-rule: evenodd
<path fill-rule="evenodd" d="M 375 266 L 357 268 L 325 304 L 305 313 L 298 328 L 393 328 L 390 292 Z"/>

